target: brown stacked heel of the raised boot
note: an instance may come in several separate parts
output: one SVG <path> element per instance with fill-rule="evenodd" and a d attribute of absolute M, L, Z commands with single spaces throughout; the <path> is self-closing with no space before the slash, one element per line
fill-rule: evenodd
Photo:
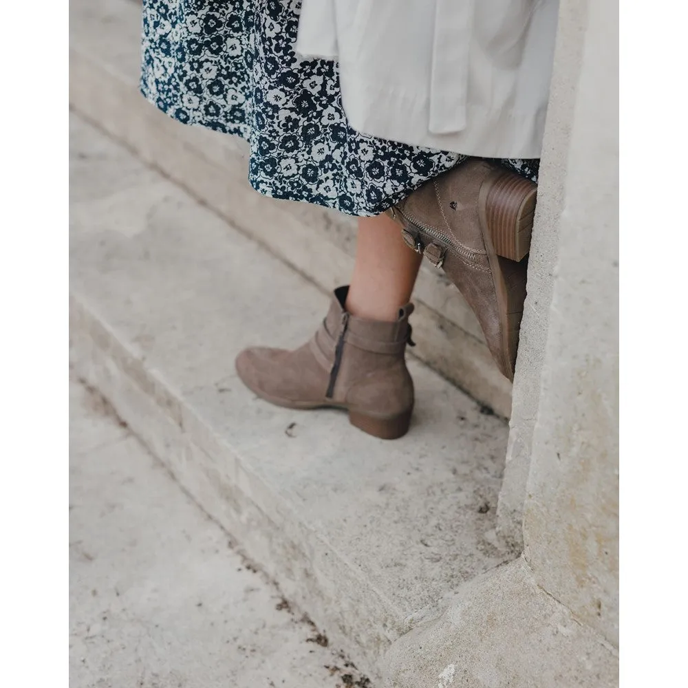
<path fill-rule="evenodd" d="M 521 261 L 530 251 L 537 184 L 504 171 L 484 184 L 480 204 L 495 253 Z"/>

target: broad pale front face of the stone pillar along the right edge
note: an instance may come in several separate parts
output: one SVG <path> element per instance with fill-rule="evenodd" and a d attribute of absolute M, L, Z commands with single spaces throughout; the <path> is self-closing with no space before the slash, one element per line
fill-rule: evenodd
<path fill-rule="evenodd" d="M 618 7 L 588 3 L 524 518 L 535 579 L 619 643 Z M 592 162 L 594 161 L 594 164 Z"/>

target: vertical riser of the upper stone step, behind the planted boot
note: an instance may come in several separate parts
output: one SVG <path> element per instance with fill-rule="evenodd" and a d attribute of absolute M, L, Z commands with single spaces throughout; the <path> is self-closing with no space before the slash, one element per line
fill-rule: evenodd
<path fill-rule="evenodd" d="M 329 292 L 349 278 L 353 265 L 350 255 L 294 217 L 286 204 L 265 203 L 246 184 L 245 171 L 231 171 L 205 158 L 184 142 L 180 134 L 182 125 L 162 116 L 142 98 L 138 89 L 74 46 L 70 47 L 69 101 L 98 129 L 125 144 L 144 162 L 155 166 L 321 290 Z M 130 124 L 131 112 L 136 112 L 136 127 Z M 181 173 L 180 156 L 186 163 Z M 238 157 L 237 162 L 240 162 Z M 228 193 L 230 186 L 235 193 Z M 259 217 L 262 222 L 247 222 L 250 217 Z M 263 227 L 270 226 L 280 226 L 282 230 L 266 233 Z M 320 260 L 322 255 L 328 256 L 326 264 Z M 424 301 L 415 301 L 417 347 L 411 353 L 467 394 L 508 418 L 511 385 L 495 367 L 486 345 Z"/>

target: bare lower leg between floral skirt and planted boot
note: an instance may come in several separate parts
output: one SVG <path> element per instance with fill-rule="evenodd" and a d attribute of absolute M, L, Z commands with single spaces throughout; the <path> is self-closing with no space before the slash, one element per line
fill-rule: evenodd
<path fill-rule="evenodd" d="M 391 217 L 359 217 L 347 310 L 361 318 L 395 321 L 399 308 L 411 299 L 421 260 Z"/>

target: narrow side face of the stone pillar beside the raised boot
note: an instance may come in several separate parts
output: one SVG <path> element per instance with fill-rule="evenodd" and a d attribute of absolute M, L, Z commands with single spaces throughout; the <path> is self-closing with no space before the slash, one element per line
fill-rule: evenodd
<path fill-rule="evenodd" d="M 587 3 L 561 0 L 535 226 L 528 258 L 528 297 L 521 325 L 504 484 L 497 510 L 498 533 L 505 544 L 518 552 L 523 550 L 523 506 L 540 399 L 552 284 L 559 255 L 559 218 L 566 195 L 571 122 L 581 75 L 587 17 Z M 590 165 L 585 165 L 585 170 L 593 176 L 597 174 Z"/>

